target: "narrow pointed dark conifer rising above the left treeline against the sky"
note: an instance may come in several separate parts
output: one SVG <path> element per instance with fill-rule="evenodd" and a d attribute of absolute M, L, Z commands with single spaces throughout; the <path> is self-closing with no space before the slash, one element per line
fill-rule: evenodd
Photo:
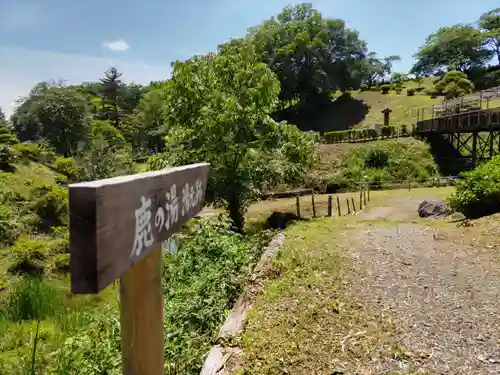
<path fill-rule="evenodd" d="M 121 73 L 118 69 L 111 67 L 104 72 L 104 78 L 100 79 L 101 87 L 98 96 L 101 99 L 99 115 L 103 120 L 111 121 L 117 129 L 120 129 L 121 110 L 119 101 L 124 89 L 121 81 Z"/>

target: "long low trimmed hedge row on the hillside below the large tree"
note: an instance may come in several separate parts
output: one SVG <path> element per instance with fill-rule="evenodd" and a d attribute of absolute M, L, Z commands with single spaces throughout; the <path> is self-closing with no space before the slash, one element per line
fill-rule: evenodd
<path fill-rule="evenodd" d="M 371 141 L 379 138 L 406 137 L 410 135 L 407 125 L 386 125 L 377 129 L 350 129 L 325 133 L 326 143 Z"/>

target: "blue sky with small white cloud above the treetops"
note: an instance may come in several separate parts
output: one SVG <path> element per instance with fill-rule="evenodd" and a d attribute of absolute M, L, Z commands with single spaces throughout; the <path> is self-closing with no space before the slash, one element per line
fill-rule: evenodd
<path fill-rule="evenodd" d="M 426 36 L 474 22 L 498 0 L 318 0 L 324 16 L 344 19 L 371 51 L 398 54 L 405 72 Z M 216 49 L 276 15 L 290 0 L 0 0 L 0 107 L 37 83 L 97 80 L 115 65 L 125 81 L 164 79 L 170 62 Z"/>

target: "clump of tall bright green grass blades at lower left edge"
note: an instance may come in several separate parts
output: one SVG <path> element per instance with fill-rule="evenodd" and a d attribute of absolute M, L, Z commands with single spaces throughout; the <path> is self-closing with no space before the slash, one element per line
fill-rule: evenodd
<path fill-rule="evenodd" d="M 23 277 L 14 284 L 1 314 L 11 321 L 38 320 L 62 308 L 62 294 L 46 281 Z"/>

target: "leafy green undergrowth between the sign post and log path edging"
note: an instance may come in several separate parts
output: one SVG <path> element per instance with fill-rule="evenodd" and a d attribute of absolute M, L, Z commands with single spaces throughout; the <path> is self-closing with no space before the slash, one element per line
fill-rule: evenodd
<path fill-rule="evenodd" d="M 166 373 L 200 372 L 259 250 L 222 218 L 200 221 L 178 252 L 165 257 Z"/>

